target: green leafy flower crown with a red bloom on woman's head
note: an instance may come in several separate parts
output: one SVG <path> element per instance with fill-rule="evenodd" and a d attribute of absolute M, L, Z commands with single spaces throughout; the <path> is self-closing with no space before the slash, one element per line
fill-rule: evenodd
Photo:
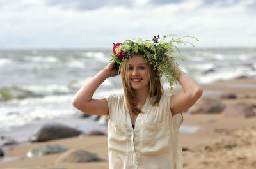
<path fill-rule="evenodd" d="M 170 40 L 165 42 L 168 37 Z M 175 34 L 162 36 L 161 38 L 158 35 L 145 41 L 138 38 L 137 41 L 126 40 L 123 43 L 114 43 L 111 61 L 115 62 L 114 70 L 116 71 L 116 74 L 120 73 L 120 65 L 123 63 L 125 64 L 127 59 L 131 58 L 134 54 L 141 54 L 144 59 L 154 67 L 154 70 L 157 70 L 157 76 L 154 77 L 154 80 L 165 75 L 168 79 L 170 89 L 173 89 L 173 84 L 177 84 L 177 79 L 180 74 L 179 65 L 175 60 L 182 60 L 182 58 L 173 55 L 174 52 L 180 52 L 177 45 L 190 44 L 194 47 L 190 41 L 185 41 L 186 38 L 193 38 L 198 41 L 197 38 L 192 36 L 175 37 Z M 152 43 L 149 43 L 148 41 L 152 41 Z"/>

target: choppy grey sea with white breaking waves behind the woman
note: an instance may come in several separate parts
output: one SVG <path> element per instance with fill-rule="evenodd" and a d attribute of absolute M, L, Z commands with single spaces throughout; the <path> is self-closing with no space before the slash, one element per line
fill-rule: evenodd
<path fill-rule="evenodd" d="M 183 58 L 177 61 L 180 68 L 200 84 L 256 78 L 256 48 L 182 48 L 173 55 Z M 50 123 L 84 133 L 106 130 L 106 125 L 93 116 L 79 118 L 83 113 L 72 107 L 71 100 L 83 84 L 108 65 L 109 59 L 111 50 L 0 50 L 0 145 L 3 138 L 26 142 Z M 165 78 L 163 85 L 168 89 Z M 100 85 L 93 97 L 122 93 L 121 78 L 116 76 Z M 182 126 L 180 133 L 197 129 Z"/>

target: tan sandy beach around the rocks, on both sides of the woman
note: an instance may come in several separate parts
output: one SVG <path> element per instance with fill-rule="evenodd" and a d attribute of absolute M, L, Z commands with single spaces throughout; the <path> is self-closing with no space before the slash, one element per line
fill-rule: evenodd
<path fill-rule="evenodd" d="M 218 81 L 203 86 L 203 98 L 218 99 L 224 105 L 256 103 L 256 80 L 240 78 Z M 180 89 L 175 89 L 174 93 Z M 220 95 L 231 92 L 236 99 L 220 99 Z M 253 108 L 256 112 L 256 107 Z M 184 113 L 184 123 L 199 126 L 195 133 L 182 134 L 184 168 L 256 168 L 256 117 L 228 117 L 222 113 Z M 82 149 L 97 154 L 103 162 L 55 163 L 60 154 L 42 157 L 26 157 L 33 147 L 58 143 L 70 149 Z M 108 168 L 107 136 L 79 136 L 48 142 L 30 143 L 2 147 L 5 157 L 0 168 Z"/>

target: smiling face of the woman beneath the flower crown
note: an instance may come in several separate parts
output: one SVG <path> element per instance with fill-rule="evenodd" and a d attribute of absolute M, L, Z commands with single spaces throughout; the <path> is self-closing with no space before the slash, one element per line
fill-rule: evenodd
<path fill-rule="evenodd" d="M 129 70 L 129 82 L 132 89 L 148 90 L 149 66 L 142 55 L 133 55 L 127 62 Z"/>

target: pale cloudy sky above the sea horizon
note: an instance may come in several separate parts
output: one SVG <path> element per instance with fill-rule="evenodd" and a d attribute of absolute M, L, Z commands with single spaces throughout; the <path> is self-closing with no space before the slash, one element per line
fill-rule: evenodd
<path fill-rule="evenodd" d="M 0 50 L 108 49 L 196 36 L 195 47 L 256 47 L 256 0 L 0 0 Z"/>

